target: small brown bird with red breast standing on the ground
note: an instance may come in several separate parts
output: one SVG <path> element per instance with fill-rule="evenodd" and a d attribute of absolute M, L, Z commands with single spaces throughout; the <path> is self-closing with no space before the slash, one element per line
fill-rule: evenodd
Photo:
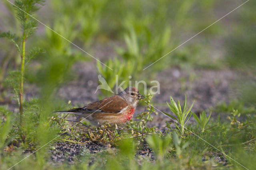
<path fill-rule="evenodd" d="M 132 118 L 138 101 L 144 99 L 135 87 L 127 87 L 118 95 L 104 98 L 100 101 L 89 103 L 83 107 L 56 113 L 74 114 L 84 117 L 92 125 L 122 125 Z"/>

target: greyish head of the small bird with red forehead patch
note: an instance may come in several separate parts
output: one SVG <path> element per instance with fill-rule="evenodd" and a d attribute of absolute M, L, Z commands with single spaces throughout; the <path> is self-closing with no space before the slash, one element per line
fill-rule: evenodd
<path fill-rule="evenodd" d="M 136 105 L 139 100 L 144 99 L 144 96 L 141 95 L 135 87 L 127 87 L 118 95 L 123 97 L 126 101 L 128 101 L 131 104 L 136 103 Z"/>

